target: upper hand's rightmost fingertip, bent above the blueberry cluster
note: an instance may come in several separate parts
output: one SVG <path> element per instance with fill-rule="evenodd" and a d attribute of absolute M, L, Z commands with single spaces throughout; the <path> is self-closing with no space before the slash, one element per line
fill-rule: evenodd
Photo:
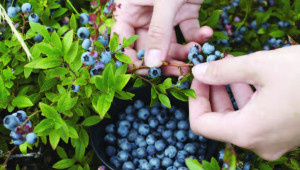
<path fill-rule="evenodd" d="M 195 41 L 203 44 L 213 35 L 213 30 L 210 27 L 203 26 L 200 28 L 198 18 L 181 22 L 180 29 L 187 42 Z"/>

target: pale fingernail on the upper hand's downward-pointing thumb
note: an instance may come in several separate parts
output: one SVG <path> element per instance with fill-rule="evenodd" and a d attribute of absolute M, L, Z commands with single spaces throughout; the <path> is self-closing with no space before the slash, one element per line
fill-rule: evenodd
<path fill-rule="evenodd" d="M 148 67 L 159 67 L 162 65 L 162 52 L 157 49 L 148 51 L 145 57 L 145 63 Z"/>

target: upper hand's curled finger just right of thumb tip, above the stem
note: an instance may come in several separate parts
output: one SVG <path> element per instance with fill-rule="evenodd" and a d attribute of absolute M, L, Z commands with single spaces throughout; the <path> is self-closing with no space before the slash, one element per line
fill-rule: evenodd
<path fill-rule="evenodd" d="M 168 52 L 168 56 L 170 56 L 172 59 L 175 59 L 175 60 L 186 61 L 189 51 L 190 51 L 190 48 L 195 45 L 197 45 L 199 47 L 199 49 L 201 50 L 201 46 L 195 42 L 190 42 L 186 45 L 172 43 L 170 46 L 170 50 Z"/>

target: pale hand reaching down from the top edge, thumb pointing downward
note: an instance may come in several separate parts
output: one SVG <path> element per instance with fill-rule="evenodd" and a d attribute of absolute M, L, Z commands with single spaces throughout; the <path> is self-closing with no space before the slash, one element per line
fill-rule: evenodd
<path fill-rule="evenodd" d="M 203 0 L 115 0 L 121 4 L 116 8 L 114 15 L 116 24 L 112 32 L 128 38 L 134 34 L 139 35 L 135 49 L 146 49 L 145 64 L 148 67 L 159 67 L 163 61 L 184 64 L 189 48 L 197 43 L 204 43 L 213 34 L 211 28 L 200 28 L 198 15 Z M 174 26 L 178 25 L 187 42 L 186 46 L 177 44 Z M 197 42 L 197 43 L 196 43 Z M 199 44 L 197 44 L 199 45 Z M 133 46 L 125 49 L 125 54 L 131 57 L 133 64 L 142 65 L 138 60 L 137 52 Z M 174 75 L 178 69 L 162 67 L 165 74 Z"/>

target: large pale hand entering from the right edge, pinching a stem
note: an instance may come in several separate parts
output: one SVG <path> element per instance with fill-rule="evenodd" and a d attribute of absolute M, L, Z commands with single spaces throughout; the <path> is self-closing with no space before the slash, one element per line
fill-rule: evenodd
<path fill-rule="evenodd" d="M 299 52 L 298 45 L 195 66 L 197 98 L 189 100 L 192 130 L 267 160 L 300 146 Z M 222 86 L 226 84 L 231 84 L 238 111 Z M 214 85 L 210 91 L 208 85 Z"/>

